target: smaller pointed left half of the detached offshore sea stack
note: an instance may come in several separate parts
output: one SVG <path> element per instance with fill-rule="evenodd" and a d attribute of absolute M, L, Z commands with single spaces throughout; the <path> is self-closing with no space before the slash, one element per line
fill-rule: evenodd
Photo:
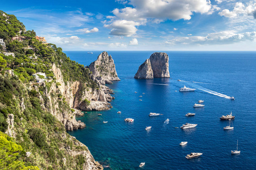
<path fill-rule="evenodd" d="M 153 79 L 153 70 L 151 67 L 150 59 L 146 59 L 145 62 L 141 66 L 137 73 L 134 76 L 135 79 Z"/>

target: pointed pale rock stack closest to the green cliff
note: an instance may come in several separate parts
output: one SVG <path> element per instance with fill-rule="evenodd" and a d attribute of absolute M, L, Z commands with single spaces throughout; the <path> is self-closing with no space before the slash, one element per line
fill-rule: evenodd
<path fill-rule="evenodd" d="M 92 71 L 92 79 L 98 80 L 101 84 L 112 84 L 112 81 L 119 81 L 115 71 L 114 60 L 107 52 L 102 52 L 96 61 L 89 66 Z"/>

